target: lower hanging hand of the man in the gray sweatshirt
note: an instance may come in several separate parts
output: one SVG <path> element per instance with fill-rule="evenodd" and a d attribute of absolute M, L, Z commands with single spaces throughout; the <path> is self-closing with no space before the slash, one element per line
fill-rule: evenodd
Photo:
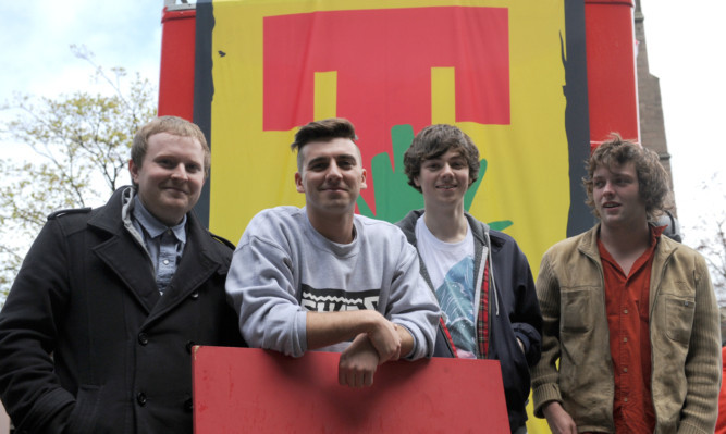
<path fill-rule="evenodd" d="M 378 351 L 365 333 L 359 334 L 343 352 L 337 363 L 337 382 L 342 386 L 369 387 L 379 365 Z"/>

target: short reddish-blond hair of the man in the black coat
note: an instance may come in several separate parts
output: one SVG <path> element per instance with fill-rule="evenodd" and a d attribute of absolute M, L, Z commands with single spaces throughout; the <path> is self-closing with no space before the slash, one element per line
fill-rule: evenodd
<path fill-rule="evenodd" d="M 211 165 L 211 151 L 205 134 L 199 127 L 182 117 L 159 116 L 143 125 L 134 136 L 134 142 L 131 147 L 131 159 L 137 168 L 141 168 L 146 150 L 149 147 L 149 137 L 159 133 L 169 133 L 174 136 L 196 138 L 205 152 L 205 176 L 209 176 L 209 166 Z"/>

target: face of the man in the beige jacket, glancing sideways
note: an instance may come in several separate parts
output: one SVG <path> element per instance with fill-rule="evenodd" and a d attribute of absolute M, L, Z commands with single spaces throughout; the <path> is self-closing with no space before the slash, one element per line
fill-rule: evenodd
<path fill-rule="evenodd" d="M 592 174 L 592 198 L 603 226 L 635 227 L 648 221 L 632 161 L 610 168 L 599 165 Z"/>

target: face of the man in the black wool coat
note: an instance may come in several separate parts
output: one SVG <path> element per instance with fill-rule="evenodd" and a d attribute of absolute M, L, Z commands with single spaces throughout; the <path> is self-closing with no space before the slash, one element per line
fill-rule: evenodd
<path fill-rule="evenodd" d="M 153 216 L 169 226 L 179 224 L 199 200 L 205 184 L 205 151 L 192 137 L 159 133 L 149 137 L 141 166 L 128 171 L 138 196 Z"/>

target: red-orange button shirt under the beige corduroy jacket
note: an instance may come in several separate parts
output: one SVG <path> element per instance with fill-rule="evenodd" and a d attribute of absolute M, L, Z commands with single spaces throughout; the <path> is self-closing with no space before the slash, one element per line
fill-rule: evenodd
<path fill-rule="evenodd" d="M 651 230 L 650 247 L 636 260 L 628 275 L 625 275 L 598 239 L 605 278 L 610 351 L 615 374 L 613 419 L 618 433 L 652 434 L 655 430 L 651 394 L 649 296 L 653 251 L 664 228 Z"/>

